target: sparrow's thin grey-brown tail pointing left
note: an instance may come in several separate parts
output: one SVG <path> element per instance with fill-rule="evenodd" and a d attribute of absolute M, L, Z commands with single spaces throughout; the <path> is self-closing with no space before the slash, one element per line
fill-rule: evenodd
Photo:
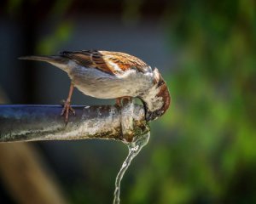
<path fill-rule="evenodd" d="M 49 64 L 55 65 L 63 71 L 67 71 L 67 63 L 69 59 L 59 56 L 59 55 L 49 55 L 49 56 L 24 56 L 19 57 L 18 59 L 28 59 L 28 60 L 36 60 L 36 61 L 45 61 Z"/>

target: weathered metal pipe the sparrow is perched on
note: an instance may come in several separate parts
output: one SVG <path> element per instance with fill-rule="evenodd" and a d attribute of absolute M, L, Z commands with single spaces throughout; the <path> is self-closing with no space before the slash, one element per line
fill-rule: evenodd
<path fill-rule="evenodd" d="M 128 107 L 129 108 L 129 107 Z M 113 105 L 73 106 L 67 125 L 60 116 L 61 105 L 0 105 L 0 142 L 116 139 L 131 140 L 122 133 L 122 115 L 133 118 L 133 136 L 148 131 L 141 105 L 133 111 L 123 111 Z"/>

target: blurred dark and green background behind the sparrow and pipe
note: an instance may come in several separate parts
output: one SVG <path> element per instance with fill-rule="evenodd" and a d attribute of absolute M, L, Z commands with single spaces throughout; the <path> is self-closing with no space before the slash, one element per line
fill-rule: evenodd
<path fill-rule="evenodd" d="M 0 86 L 12 103 L 58 104 L 69 86 L 60 70 L 18 61 L 20 55 L 122 51 L 163 73 L 172 106 L 152 122 L 149 144 L 122 181 L 121 203 L 256 203 L 255 1 L 1 4 Z M 73 103 L 107 102 L 76 92 Z M 68 203 L 112 202 L 124 145 L 34 145 Z M 19 203 L 5 184 L 0 187 L 0 201 Z"/>

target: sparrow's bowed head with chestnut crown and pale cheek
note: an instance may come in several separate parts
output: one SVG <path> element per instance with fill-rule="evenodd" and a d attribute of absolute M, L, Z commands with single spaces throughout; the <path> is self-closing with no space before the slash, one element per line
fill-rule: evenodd
<path fill-rule="evenodd" d="M 154 85 L 147 92 L 140 95 L 145 108 L 146 121 L 154 121 L 162 116 L 171 104 L 171 96 L 166 82 L 157 68 L 154 69 Z"/>

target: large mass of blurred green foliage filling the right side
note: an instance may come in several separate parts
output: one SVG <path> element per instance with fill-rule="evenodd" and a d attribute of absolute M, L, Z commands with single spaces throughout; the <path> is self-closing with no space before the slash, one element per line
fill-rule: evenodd
<path fill-rule="evenodd" d="M 152 127 L 159 134 L 152 134 L 152 162 L 137 175 L 130 202 L 254 203 L 255 3 L 174 6 L 164 18 L 177 54 L 166 78 L 172 107 Z"/>

